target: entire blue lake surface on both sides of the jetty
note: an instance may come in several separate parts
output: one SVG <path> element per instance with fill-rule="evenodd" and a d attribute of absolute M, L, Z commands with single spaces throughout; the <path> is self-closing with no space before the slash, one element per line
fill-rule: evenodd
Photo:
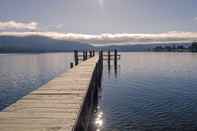
<path fill-rule="evenodd" d="M 1 54 L 0 109 L 66 71 L 72 56 Z M 197 130 L 197 54 L 121 53 L 117 70 L 104 62 L 95 116 L 97 131 Z"/>

